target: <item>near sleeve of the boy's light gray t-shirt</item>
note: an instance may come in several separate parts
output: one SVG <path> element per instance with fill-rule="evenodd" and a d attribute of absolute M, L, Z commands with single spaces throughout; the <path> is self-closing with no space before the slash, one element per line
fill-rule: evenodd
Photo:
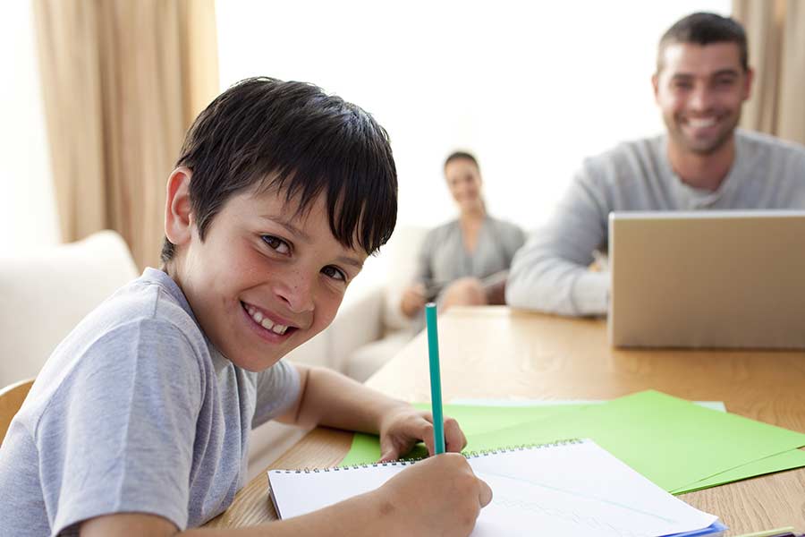
<path fill-rule="evenodd" d="M 91 343 L 37 424 L 54 533 L 96 516 L 188 519 L 200 362 L 169 323 L 138 320 Z"/>

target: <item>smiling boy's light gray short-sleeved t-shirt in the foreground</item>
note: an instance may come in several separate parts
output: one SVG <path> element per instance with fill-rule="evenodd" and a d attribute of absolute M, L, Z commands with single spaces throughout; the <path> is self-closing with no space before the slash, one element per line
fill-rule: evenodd
<path fill-rule="evenodd" d="M 123 512 L 203 524 L 242 488 L 250 429 L 299 389 L 285 362 L 259 373 L 229 362 L 174 281 L 147 268 L 55 349 L 14 418 L 0 535 L 71 534 Z"/>

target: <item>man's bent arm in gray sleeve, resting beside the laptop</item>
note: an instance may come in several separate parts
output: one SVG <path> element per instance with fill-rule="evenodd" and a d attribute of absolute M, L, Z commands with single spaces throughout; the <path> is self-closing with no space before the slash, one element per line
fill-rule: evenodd
<path fill-rule="evenodd" d="M 604 194 L 582 172 L 548 225 L 514 256 L 506 303 L 561 315 L 606 314 L 609 274 L 588 267 L 606 243 L 608 212 Z"/>

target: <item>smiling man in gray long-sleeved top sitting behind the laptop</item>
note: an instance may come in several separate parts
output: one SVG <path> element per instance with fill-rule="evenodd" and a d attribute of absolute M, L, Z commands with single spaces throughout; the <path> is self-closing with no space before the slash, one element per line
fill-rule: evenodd
<path fill-rule="evenodd" d="M 514 257 L 506 302 L 606 314 L 608 215 L 623 210 L 805 209 L 805 148 L 736 129 L 753 72 L 733 19 L 693 13 L 660 39 L 652 85 L 667 132 L 584 161 L 548 225 Z"/>

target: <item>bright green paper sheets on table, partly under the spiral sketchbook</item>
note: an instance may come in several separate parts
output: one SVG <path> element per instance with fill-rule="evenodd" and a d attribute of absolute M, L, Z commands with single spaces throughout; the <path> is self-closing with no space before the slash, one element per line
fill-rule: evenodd
<path fill-rule="evenodd" d="M 805 452 L 796 450 L 805 446 L 805 434 L 657 391 L 600 405 L 445 405 L 445 414 L 462 424 L 467 450 L 591 438 L 674 494 L 805 465 Z M 421 446 L 410 454 L 425 455 Z M 377 437 L 355 435 L 342 465 L 379 456 Z"/>

